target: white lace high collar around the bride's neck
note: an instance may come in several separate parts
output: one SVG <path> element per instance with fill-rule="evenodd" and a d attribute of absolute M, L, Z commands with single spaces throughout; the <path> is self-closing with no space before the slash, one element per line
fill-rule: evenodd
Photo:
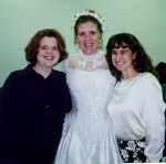
<path fill-rule="evenodd" d="M 92 63 L 92 67 L 96 68 L 97 66 L 102 65 L 102 56 L 103 53 L 102 51 L 98 51 L 94 55 L 85 55 L 81 53 L 80 59 L 79 59 L 79 65 L 81 65 L 83 68 L 87 66 L 89 63 Z"/>

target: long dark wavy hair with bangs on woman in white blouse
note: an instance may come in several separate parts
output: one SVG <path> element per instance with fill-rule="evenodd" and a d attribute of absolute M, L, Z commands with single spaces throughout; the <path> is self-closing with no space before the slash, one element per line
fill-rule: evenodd
<path fill-rule="evenodd" d="M 110 70 L 116 77 L 116 80 L 121 80 L 122 73 L 117 70 L 112 63 L 112 50 L 118 47 L 128 47 L 132 53 L 136 54 L 133 65 L 138 73 L 149 72 L 156 75 L 154 66 L 152 65 L 152 59 L 145 52 L 141 42 L 133 34 L 118 33 L 111 36 L 106 45 L 106 61 L 108 63 Z"/>

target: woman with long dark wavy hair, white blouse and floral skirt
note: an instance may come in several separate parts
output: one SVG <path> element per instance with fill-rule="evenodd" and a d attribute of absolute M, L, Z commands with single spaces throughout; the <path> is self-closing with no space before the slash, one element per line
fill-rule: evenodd
<path fill-rule="evenodd" d="M 159 162 L 166 105 L 151 57 L 133 34 L 120 33 L 110 37 L 106 59 L 116 78 L 107 110 L 124 162 Z"/>

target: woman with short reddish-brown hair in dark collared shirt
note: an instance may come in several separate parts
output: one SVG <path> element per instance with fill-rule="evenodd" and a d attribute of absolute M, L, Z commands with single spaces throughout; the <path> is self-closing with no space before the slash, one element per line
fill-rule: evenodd
<path fill-rule="evenodd" d="M 56 30 L 40 30 L 30 40 L 25 47 L 30 64 L 11 73 L 2 87 L 1 161 L 53 163 L 63 119 L 71 109 L 65 75 L 53 66 L 66 56 Z"/>

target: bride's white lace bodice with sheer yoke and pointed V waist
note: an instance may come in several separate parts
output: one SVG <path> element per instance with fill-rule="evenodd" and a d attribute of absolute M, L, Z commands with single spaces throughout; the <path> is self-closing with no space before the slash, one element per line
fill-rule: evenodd
<path fill-rule="evenodd" d="M 74 113 L 66 121 L 70 120 L 83 142 L 89 158 L 97 139 L 111 128 L 106 107 L 115 79 L 101 51 L 91 57 L 83 54 L 70 56 L 63 63 L 63 69 L 66 73 Z"/>

